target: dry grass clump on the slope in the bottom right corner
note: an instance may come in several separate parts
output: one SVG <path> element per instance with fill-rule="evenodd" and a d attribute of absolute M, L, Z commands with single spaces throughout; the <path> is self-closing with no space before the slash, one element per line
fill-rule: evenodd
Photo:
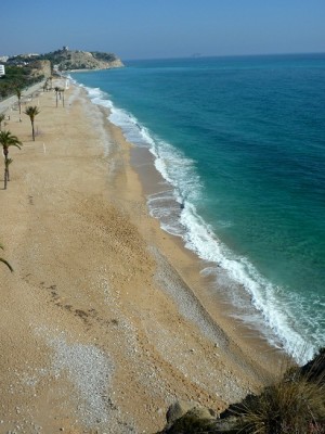
<path fill-rule="evenodd" d="M 325 433 L 325 352 L 308 370 L 291 368 L 281 381 L 238 408 L 245 434 Z M 322 367 L 322 369 L 321 369 Z M 316 372 L 316 374 L 315 374 Z"/>

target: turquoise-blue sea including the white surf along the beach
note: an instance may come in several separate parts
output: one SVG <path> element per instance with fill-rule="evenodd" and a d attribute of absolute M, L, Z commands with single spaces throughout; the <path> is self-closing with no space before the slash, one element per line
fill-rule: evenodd
<path fill-rule="evenodd" d="M 237 319 L 310 359 L 325 346 L 325 54 L 125 65 L 70 78 L 153 155 L 150 213 Z"/>

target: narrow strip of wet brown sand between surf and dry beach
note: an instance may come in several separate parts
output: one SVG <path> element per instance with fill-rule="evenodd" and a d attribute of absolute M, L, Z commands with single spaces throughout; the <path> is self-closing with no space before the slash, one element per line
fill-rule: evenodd
<path fill-rule="evenodd" d="M 92 103 L 84 88 L 83 91 L 86 92 L 86 98 Z M 101 108 L 108 122 L 109 129 L 118 137 L 119 142 L 125 142 L 128 149 L 130 165 L 128 169 L 134 171 L 133 175 L 138 178 L 145 213 L 151 224 L 156 227 L 155 233 L 157 237 L 154 240 L 155 245 L 161 247 L 166 259 L 177 269 L 182 281 L 188 286 L 190 291 L 193 292 L 194 296 L 197 297 L 206 315 L 220 327 L 222 333 L 225 333 L 226 339 L 229 337 L 232 344 L 238 346 L 239 355 L 244 355 L 244 358 L 248 357 L 250 361 L 253 360 L 255 368 L 257 366 L 259 367 L 258 369 L 260 369 L 260 372 L 255 372 L 255 374 L 257 374 L 257 376 L 261 375 L 263 381 L 268 382 L 270 379 L 274 378 L 273 375 L 276 375 L 278 369 L 283 369 L 283 365 L 291 360 L 290 356 L 287 355 L 282 347 L 271 345 L 261 330 L 252 328 L 251 324 L 245 323 L 239 318 L 236 318 L 234 315 L 234 306 L 230 299 L 222 296 L 220 292 L 213 293 L 216 282 L 213 281 L 212 283 L 209 277 L 206 278 L 202 276 L 203 269 L 209 266 L 209 263 L 205 259 L 200 259 L 196 253 L 186 248 L 182 238 L 165 231 L 160 226 L 159 218 L 148 215 L 147 196 L 159 191 L 159 186 L 161 183 L 168 184 L 168 182 L 155 168 L 154 157 L 150 150 L 146 148 L 138 148 L 131 142 L 128 142 L 121 128 L 114 125 L 108 119 L 110 114 L 109 108 L 98 103 L 94 105 Z M 146 157 L 144 153 L 147 154 Z M 150 162 L 147 159 L 150 159 Z M 139 226 L 136 219 L 134 224 Z M 246 294 L 246 296 L 249 298 L 249 294 Z M 218 299 L 218 297 L 220 298 Z M 275 337 L 274 341 L 276 341 Z M 243 354 L 242 350 L 244 352 Z M 264 369 L 266 366 L 268 368 Z"/>

